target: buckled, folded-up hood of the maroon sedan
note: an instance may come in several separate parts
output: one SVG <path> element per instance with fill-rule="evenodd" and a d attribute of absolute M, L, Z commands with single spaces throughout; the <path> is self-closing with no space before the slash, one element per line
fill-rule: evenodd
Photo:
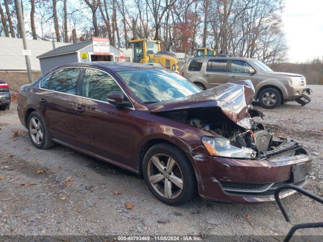
<path fill-rule="evenodd" d="M 251 116 L 248 110 L 253 97 L 252 82 L 244 80 L 229 82 L 183 98 L 152 103 L 148 105 L 148 109 L 151 112 L 164 112 L 188 108 L 220 107 L 234 123 L 249 130 Z"/>

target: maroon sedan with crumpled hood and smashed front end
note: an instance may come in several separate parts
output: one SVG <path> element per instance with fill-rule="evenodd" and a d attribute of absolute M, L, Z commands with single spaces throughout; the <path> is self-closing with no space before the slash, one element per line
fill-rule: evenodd
<path fill-rule="evenodd" d="M 37 148 L 59 143 L 138 173 L 171 205 L 197 192 L 214 201 L 274 201 L 279 185 L 306 185 L 304 148 L 253 122 L 263 114 L 250 108 L 251 81 L 200 91 L 152 66 L 69 64 L 22 86 L 18 114 Z"/>

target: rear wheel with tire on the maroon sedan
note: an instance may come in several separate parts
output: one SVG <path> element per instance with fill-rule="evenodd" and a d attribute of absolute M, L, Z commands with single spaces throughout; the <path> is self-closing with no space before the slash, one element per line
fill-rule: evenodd
<path fill-rule="evenodd" d="M 31 142 L 36 148 L 47 149 L 54 145 L 48 138 L 44 119 L 37 111 L 30 113 L 27 127 Z"/>

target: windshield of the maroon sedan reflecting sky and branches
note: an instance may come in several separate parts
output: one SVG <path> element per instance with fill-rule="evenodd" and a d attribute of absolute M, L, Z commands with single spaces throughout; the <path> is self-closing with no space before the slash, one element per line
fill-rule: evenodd
<path fill-rule="evenodd" d="M 143 103 L 171 100 L 201 91 L 181 75 L 165 70 L 135 69 L 117 73 Z"/>

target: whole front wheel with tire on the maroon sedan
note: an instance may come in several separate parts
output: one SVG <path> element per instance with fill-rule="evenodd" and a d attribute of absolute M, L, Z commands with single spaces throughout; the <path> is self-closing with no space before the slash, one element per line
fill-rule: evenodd
<path fill-rule="evenodd" d="M 181 205 L 196 196 L 193 167 L 178 147 L 160 143 L 143 158 L 143 176 L 150 192 L 161 202 Z"/>

